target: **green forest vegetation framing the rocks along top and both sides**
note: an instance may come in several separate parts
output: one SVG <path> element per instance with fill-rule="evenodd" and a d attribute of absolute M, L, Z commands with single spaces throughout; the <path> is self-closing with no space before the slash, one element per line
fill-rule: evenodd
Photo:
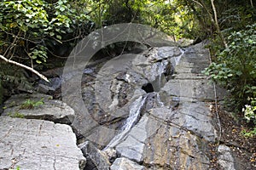
<path fill-rule="evenodd" d="M 0 11 L 0 58 L 38 71 L 64 62 L 79 40 L 102 26 L 132 22 L 164 31 L 173 41 L 211 39 L 214 62 L 205 73 L 230 90 L 234 111 L 241 113 L 244 108 L 245 119 L 255 120 L 256 9 L 252 0 L 2 0 Z M 127 44 L 132 43 L 106 49 L 125 49 Z M 0 104 L 20 84 L 28 87 L 29 76 L 1 60 Z"/>

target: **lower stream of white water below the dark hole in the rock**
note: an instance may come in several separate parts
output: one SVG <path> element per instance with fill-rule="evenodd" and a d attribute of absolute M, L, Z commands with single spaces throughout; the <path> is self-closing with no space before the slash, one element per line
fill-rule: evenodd
<path fill-rule="evenodd" d="M 143 105 L 145 105 L 145 101 L 148 97 L 148 94 L 145 94 L 144 96 L 140 96 L 138 99 L 136 99 L 132 104 L 130 108 L 130 114 L 129 117 L 126 119 L 124 126 L 121 128 L 122 132 L 116 135 L 106 146 L 104 150 L 107 150 L 108 148 L 113 148 L 117 144 L 120 143 L 122 139 L 124 139 L 125 135 L 129 133 L 131 130 L 131 127 L 133 127 L 140 116 L 140 113 L 143 109 Z"/>

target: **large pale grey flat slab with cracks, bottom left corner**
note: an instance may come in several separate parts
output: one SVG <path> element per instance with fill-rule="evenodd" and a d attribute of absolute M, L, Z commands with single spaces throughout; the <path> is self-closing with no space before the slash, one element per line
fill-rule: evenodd
<path fill-rule="evenodd" d="M 42 120 L 0 117 L 0 169 L 84 169 L 72 128 Z"/>

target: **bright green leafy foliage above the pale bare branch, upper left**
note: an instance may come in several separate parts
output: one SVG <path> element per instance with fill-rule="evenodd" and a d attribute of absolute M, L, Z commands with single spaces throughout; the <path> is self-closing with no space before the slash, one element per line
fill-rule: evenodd
<path fill-rule="evenodd" d="M 87 22 L 87 15 L 79 13 L 72 1 L 20 0 L 0 2 L 0 54 L 6 58 L 46 62 L 49 43 L 67 41 Z M 81 34 L 82 31 L 80 31 Z M 12 47 L 15 44 L 15 48 Z M 27 57 L 30 59 L 27 60 Z"/>

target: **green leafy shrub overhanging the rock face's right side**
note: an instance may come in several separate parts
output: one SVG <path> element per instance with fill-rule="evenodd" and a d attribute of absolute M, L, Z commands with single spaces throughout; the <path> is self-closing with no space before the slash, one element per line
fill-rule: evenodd
<path fill-rule="evenodd" d="M 212 63 L 205 73 L 229 89 L 241 109 L 248 97 L 256 97 L 255 60 L 256 24 L 247 26 L 244 31 L 232 32 L 228 37 L 228 48 L 218 54 L 218 64 Z"/>

